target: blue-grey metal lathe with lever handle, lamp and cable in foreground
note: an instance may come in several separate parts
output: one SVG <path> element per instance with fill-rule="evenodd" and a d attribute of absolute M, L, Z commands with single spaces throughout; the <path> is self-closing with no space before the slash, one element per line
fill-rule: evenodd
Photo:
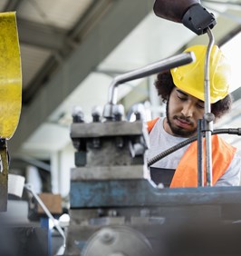
<path fill-rule="evenodd" d="M 198 1 L 159 0 L 154 4 L 154 12 L 182 22 L 197 34 L 208 34 L 205 67 L 208 74 L 214 16 Z M 98 108 L 93 110 L 92 123 L 84 122 L 80 108 L 72 113 L 71 138 L 76 153 L 71 175 L 71 223 L 64 255 L 240 255 L 241 188 L 211 186 L 210 155 L 207 155 L 207 187 L 202 181 L 198 182 L 198 188 L 169 189 L 154 184 L 147 174 L 151 162 L 197 137 L 147 162 L 149 137 L 142 113 L 137 109 L 136 121 L 125 121 L 123 108 L 116 100 L 119 84 L 193 60 L 192 53 L 179 54 L 117 76 L 110 86 L 103 113 Z M 240 129 L 212 131 L 208 83 L 207 75 L 203 120 L 206 129 L 198 131 L 199 140 L 204 134 L 207 142 L 213 133 L 240 135 Z M 208 153 L 211 145 L 206 146 Z"/>

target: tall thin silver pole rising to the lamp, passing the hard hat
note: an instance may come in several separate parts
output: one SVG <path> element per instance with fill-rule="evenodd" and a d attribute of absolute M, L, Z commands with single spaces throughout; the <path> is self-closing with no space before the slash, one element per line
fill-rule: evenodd
<path fill-rule="evenodd" d="M 206 168 L 207 168 L 207 186 L 212 186 L 212 142 L 211 142 L 211 133 L 213 131 L 213 121 L 208 119 L 209 113 L 211 113 L 211 103 L 210 103 L 210 54 L 212 47 L 214 45 L 214 36 L 209 28 L 207 28 L 207 34 L 209 37 L 209 43 L 207 45 L 207 53 L 205 58 L 205 114 L 204 119 L 206 123 Z"/>

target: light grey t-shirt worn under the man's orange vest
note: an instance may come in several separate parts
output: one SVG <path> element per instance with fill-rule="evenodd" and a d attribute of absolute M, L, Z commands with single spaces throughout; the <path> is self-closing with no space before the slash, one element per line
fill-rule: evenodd
<path fill-rule="evenodd" d="M 167 133 L 164 130 L 163 122 L 164 118 L 159 118 L 149 133 L 150 147 L 148 151 L 148 160 L 159 153 L 166 151 L 170 147 L 187 140 L 187 138 L 175 137 Z M 178 151 L 169 154 L 151 166 L 165 169 L 177 169 L 178 162 L 186 152 L 188 146 L 189 145 L 186 145 L 185 147 L 178 149 Z M 240 184 L 240 171 L 241 157 L 236 153 L 225 174 L 217 181 L 216 186 L 238 186 Z"/>

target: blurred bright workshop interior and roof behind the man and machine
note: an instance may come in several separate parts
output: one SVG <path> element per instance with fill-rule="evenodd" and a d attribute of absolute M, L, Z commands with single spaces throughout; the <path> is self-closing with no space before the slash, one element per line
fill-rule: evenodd
<path fill-rule="evenodd" d="M 2 0 L 0 11 L 16 11 L 23 68 L 23 105 L 19 125 L 8 142 L 10 173 L 24 175 L 36 192 L 59 193 L 68 207 L 74 148 L 72 109 L 82 107 L 86 122 L 92 108 L 107 103 L 112 79 L 207 44 L 184 25 L 154 15 L 153 0 Z M 201 1 L 217 18 L 212 30 L 233 66 L 234 105 L 216 127 L 240 127 L 241 1 Z M 127 118 L 143 103 L 146 118 L 165 112 L 155 75 L 120 84 L 118 100 Z M 241 140 L 227 140 L 241 150 Z"/>

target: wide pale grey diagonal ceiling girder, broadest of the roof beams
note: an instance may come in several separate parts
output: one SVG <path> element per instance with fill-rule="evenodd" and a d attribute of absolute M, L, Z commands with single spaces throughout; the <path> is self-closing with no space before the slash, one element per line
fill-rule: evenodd
<path fill-rule="evenodd" d="M 86 34 L 71 56 L 44 84 L 34 101 L 25 106 L 14 137 L 8 142 L 11 153 L 34 133 L 41 123 L 82 83 L 101 61 L 111 53 L 152 10 L 152 1 L 112 1 L 108 12 Z"/>

